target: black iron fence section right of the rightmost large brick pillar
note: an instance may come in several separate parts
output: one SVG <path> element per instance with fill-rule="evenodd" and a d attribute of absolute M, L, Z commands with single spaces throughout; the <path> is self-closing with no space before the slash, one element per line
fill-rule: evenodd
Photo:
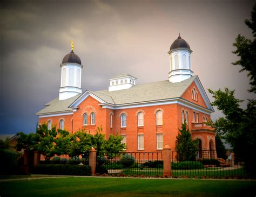
<path fill-rule="evenodd" d="M 218 158 L 215 150 L 172 151 L 172 177 L 246 178 L 243 163 L 231 151 Z"/>

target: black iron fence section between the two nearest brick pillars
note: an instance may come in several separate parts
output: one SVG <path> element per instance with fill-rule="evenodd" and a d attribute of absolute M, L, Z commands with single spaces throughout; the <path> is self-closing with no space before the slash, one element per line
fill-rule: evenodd
<path fill-rule="evenodd" d="M 160 176 L 163 174 L 163 154 L 158 152 L 102 153 L 97 157 L 97 165 L 109 174 Z"/>

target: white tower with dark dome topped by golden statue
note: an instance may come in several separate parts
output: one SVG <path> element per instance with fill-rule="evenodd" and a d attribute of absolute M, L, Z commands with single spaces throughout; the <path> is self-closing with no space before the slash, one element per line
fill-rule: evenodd
<path fill-rule="evenodd" d="M 60 64 L 62 76 L 59 88 L 59 100 L 76 96 L 82 93 L 82 62 L 77 54 L 73 52 L 73 41 L 71 41 L 71 52 L 66 54 Z"/>

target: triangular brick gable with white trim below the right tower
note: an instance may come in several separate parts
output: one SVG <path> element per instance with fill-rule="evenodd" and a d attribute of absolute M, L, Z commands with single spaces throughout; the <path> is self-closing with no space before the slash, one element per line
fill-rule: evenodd
<path fill-rule="evenodd" d="M 201 107 L 214 111 L 211 102 L 208 96 L 206 95 L 204 87 L 201 85 L 201 82 L 198 77 L 194 79 L 190 86 L 187 87 L 181 98 L 184 98 L 187 101 L 190 101 L 194 104 L 200 105 Z"/>

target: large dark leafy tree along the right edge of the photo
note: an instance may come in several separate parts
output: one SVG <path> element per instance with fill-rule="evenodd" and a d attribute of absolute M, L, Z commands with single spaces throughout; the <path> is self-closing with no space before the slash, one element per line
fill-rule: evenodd
<path fill-rule="evenodd" d="M 233 65 L 241 65 L 242 71 L 248 71 L 250 77 L 251 89 L 249 92 L 256 93 L 256 4 L 251 12 L 251 20 L 246 19 L 246 25 L 252 29 L 254 40 L 246 39 L 240 34 L 233 44 L 237 50 L 233 51 L 240 57 L 240 60 L 233 62 Z M 253 153 L 256 151 L 256 101 L 248 100 L 247 108 L 241 109 L 239 100 L 234 97 L 234 90 L 213 91 L 213 106 L 217 106 L 222 111 L 224 117 L 217 119 L 213 123 L 217 133 L 223 137 L 226 142 L 233 147 L 236 158 L 240 158 L 245 162 L 245 169 L 251 177 L 256 177 L 255 157 Z"/>

